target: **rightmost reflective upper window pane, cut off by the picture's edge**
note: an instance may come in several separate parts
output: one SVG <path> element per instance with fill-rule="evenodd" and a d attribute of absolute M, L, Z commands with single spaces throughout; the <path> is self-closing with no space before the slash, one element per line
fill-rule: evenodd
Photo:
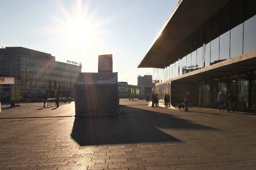
<path fill-rule="evenodd" d="M 243 53 L 256 50 L 256 15 L 244 22 Z"/>

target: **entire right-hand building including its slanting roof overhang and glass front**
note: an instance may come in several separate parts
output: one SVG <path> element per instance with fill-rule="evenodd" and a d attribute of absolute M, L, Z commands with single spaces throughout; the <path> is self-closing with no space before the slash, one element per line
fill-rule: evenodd
<path fill-rule="evenodd" d="M 190 105 L 217 108 L 221 90 L 228 105 L 256 109 L 256 1 L 180 0 L 138 68 L 153 68 L 156 92 Z M 178 104 L 178 103 L 176 103 Z"/>

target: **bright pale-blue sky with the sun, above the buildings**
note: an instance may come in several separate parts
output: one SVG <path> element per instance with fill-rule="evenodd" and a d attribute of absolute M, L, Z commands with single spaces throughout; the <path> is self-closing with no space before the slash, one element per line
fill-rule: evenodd
<path fill-rule="evenodd" d="M 137 68 L 179 0 L 0 0 L 0 45 L 52 54 L 98 72 L 113 54 L 118 81 L 137 85 Z"/>

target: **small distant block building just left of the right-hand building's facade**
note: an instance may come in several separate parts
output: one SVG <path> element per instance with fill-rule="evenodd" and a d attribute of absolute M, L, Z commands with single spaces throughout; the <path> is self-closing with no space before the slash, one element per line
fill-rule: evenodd
<path fill-rule="evenodd" d="M 144 75 L 144 76 L 139 75 L 138 76 L 138 86 L 142 87 L 141 94 L 144 99 L 146 98 L 147 95 L 151 96 L 152 95 L 151 94 L 152 93 L 152 75 Z M 145 92 L 145 87 L 147 87 L 146 92 Z M 148 88 L 151 88 L 151 91 L 148 90 Z"/>

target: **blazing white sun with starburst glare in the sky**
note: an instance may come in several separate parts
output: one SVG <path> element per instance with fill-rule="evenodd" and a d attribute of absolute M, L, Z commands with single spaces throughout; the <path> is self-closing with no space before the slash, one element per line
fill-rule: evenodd
<path fill-rule="evenodd" d="M 97 18 L 96 12 L 88 12 L 89 1 L 76 0 L 71 6 L 57 1 L 57 13 L 51 15 L 54 27 L 49 32 L 54 34 L 55 41 L 60 41 L 64 48 L 91 48 L 102 42 L 105 31 L 102 26 L 110 22 Z M 66 5 L 66 6 L 65 6 Z"/>

